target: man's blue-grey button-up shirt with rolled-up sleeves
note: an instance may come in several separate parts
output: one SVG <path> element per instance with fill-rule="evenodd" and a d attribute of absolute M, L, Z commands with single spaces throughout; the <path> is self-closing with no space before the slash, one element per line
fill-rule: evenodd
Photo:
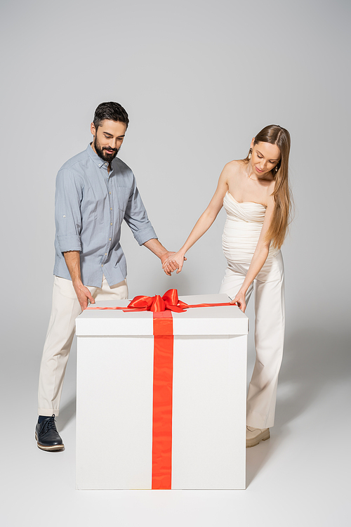
<path fill-rule="evenodd" d="M 71 280 L 66 251 L 80 251 L 81 280 L 101 287 L 126 278 L 126 257 L 119 243 L 126 221 L 139 245 L 157 238 L 147 218 L 133 172 L 118 157 L 108 163 L 88 148 L 58 171 L 55 193 L 55 267 L 53 273 Z"/>

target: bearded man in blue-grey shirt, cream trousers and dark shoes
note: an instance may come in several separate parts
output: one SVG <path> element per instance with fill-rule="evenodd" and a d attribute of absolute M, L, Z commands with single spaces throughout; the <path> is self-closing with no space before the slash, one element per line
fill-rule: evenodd
<path fill-rule="evenodd" d="M 126 299 L 126 259 L 119 244 L 123 220 L 139 245 L 164 263 L 133 172 L 119 160 L 128 114 L 118 103 L 95 110 L 93 142 L 58 171 L 55 193 L 53 306 L 39 375 L 36 438 L 42 450 L 62 450 L 55 426 L 74 320 L 90 301 Z"/>

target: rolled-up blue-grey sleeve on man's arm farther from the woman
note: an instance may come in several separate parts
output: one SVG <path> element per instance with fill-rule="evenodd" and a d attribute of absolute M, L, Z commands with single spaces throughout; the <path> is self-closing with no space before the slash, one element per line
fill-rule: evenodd
<path fill-rule="evenodd" d="M 72 171 L 62 169 L 56 178 L 55 226 L 61 252 L 81 251 L 82 183 Z"/>

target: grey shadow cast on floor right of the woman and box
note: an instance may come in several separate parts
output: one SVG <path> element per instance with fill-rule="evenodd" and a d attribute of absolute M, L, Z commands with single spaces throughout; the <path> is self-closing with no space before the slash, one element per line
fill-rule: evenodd
<path fill-rule="evenodd" d="M 247 487 L 277 448 L 284 448 L 289 422 L 310 408 L 322 391 L 350 383 L 350 340 L 347 332 L 310 327 L 286 337 L 274 428 L 268 441 L 246 449 Z"/>

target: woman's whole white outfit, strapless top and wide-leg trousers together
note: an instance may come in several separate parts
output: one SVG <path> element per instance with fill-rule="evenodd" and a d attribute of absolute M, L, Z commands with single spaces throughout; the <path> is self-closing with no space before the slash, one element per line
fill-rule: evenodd
<path fill-rule="evenodd" d="M 234 298 L 239 291 L 255 252 L 265 217 L 265 207 L 253 202 L 239 203 L 227 193 L 223 200 L 227 221 L 223 252 L 227 269 L 220 293 Z M 246 303 L 255 290 L 256 363 L 247 397 L 246 424 L 270 428 L 274 424 L 277 384 L 284 348 L 284 263 L 282 253 L 270 249 L 256 280 L 249 287 Z"/>

